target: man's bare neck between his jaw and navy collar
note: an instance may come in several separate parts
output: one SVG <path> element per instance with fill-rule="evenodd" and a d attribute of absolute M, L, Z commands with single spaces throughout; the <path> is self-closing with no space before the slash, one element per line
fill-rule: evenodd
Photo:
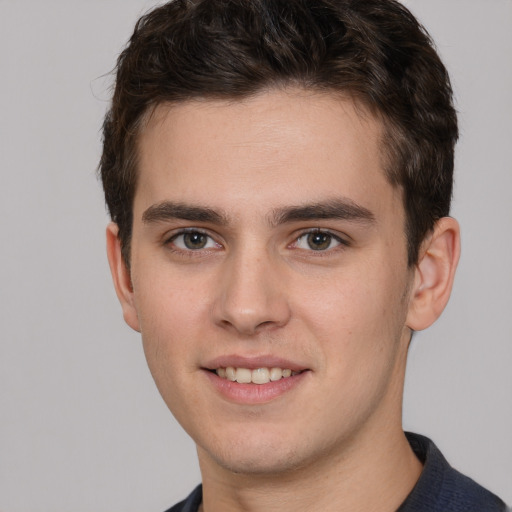
<path fill-rule="evenodd" d="M 199 459 L 203 512 L 394 512 L 422 469 L 401 428 L 286 475 L 233 474 L 200 449 Z"/>

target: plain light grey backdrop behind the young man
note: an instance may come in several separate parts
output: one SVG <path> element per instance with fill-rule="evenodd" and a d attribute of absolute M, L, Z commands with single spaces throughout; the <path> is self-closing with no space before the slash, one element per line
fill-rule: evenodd
<path fill-rule="evenodd" d="M 0 510 L 162 511 L 193 443 L 123 323 L 95 176 L 143 0 L 0 0 Z M 512 503 L 512 2 L 410 0 L 451 71 L 463 255 L 410 353 L 404 426 Z"/>

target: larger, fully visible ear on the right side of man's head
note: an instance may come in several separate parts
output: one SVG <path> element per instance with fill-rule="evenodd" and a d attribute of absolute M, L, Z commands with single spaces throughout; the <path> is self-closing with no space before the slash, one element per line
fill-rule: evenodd
<path fill-rule="evenodd" d="M 436 222 L 420 249 L 407 327 L 421 331 L 439 318 L 450 298 L 459 255 L 459 224 L 451 217 L 443 217 Z"/>

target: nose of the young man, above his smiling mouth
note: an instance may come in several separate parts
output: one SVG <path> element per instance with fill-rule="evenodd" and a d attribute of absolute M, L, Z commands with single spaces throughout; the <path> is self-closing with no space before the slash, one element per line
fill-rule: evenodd
<path fill-rule="evenodd" d="M 290 308 L 285 278 L 268 254 L 231 254 L 223 270 L 214 305 L 218 325 L 246 336 L 286 325 Z"/>

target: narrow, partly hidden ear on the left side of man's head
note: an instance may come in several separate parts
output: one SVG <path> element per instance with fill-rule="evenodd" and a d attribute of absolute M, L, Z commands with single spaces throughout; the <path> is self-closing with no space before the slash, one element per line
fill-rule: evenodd
<path fill-rule="evenodd" d="M 121 240 L 119 240 L 118 233 L 119 228 L 117 224 L 111 222 L 107 226 L 108 263 L 110 265 L 110 272 L 112 273 L 117 298 L 123 308 L 124 321 L 132 329 L 140 332 L 130 271 L 121 254 Z"/>

